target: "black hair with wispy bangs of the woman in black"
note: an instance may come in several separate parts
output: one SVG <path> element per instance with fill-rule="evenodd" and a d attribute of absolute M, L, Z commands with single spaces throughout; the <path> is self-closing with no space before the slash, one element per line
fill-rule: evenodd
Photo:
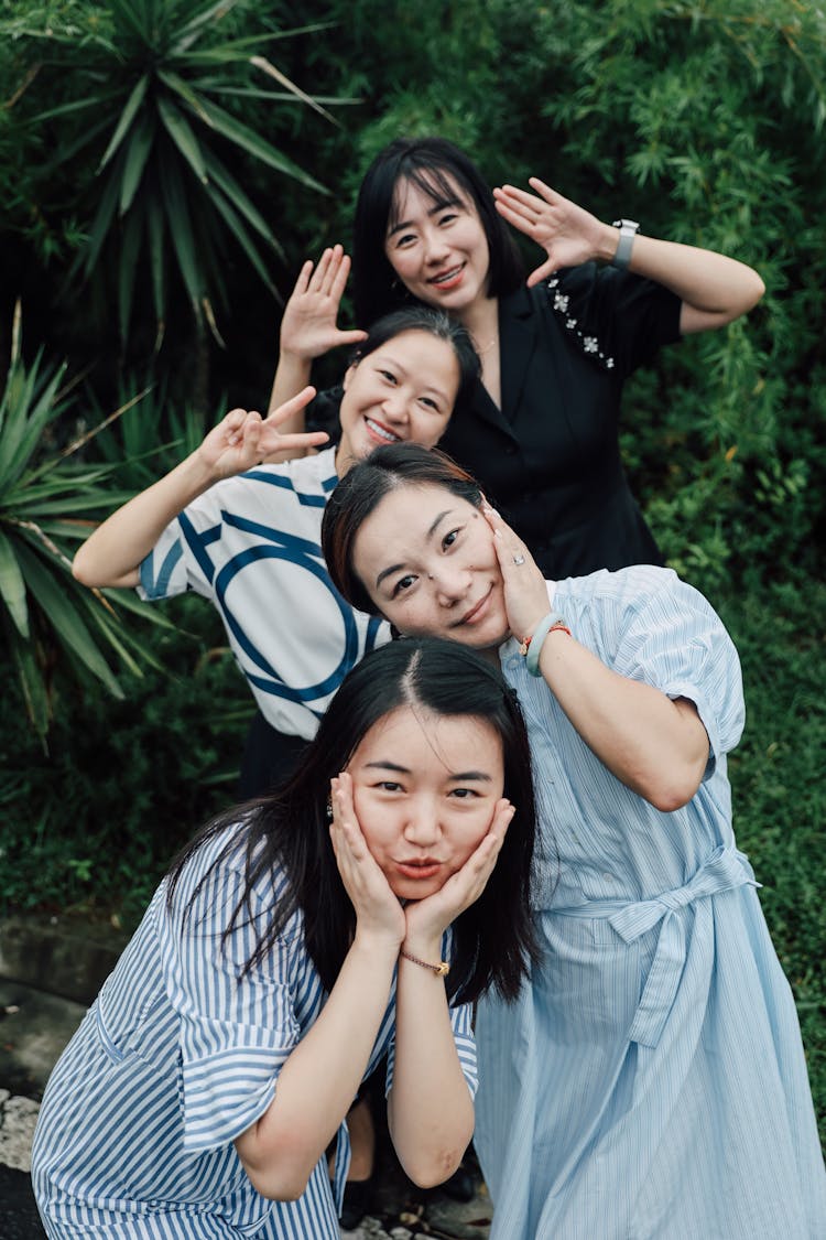
<path fill-rule="evenodd" d="M 410 298 L 384 250 L 388 228 L 396 223 L 398 188 L 404 181 L 410 181 L 437 206 L 456 202 L 458 187 L 478 211 L 488 241 L 488 296 L 504 296 L 520 286 L 524 280 L 521 255 L 476 164 L 446 138 L 396 138 L 368 167 L 355 205 L 353 303 L 357 322 L 372 322 Z"/>

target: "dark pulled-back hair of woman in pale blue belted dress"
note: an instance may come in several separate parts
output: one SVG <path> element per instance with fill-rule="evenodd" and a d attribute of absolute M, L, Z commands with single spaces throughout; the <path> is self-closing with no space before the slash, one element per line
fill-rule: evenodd
<path fill-rule="evenodd" d="M 476 479 L 437 448 L 381 444 L 353 465 L 327 501 L 321 548 L 333 585 L 359 611 L 375 614 L 376 606 L 353 565 L 355 538 L 385 495 L 404 485 L 442 486 L 476 508 L 482 506 Z"/>

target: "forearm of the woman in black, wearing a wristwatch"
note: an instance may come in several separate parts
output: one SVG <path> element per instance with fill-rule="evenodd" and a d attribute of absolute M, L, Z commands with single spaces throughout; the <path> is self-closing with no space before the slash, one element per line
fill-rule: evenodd
<path fill-rule="evenodd" d="M 619 229 L 604 224 L 596 257 L 611 262 L 618 241 Z M 682 335 L 724 326 L 757 305 L 765 291 L 760 277 L 746 263 L 640 233 L 634 238 L 628 269 L 680 298 Z"/>

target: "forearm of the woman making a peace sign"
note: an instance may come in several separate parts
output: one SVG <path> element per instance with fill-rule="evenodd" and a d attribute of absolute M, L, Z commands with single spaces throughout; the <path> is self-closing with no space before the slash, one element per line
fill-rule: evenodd
<path fill-rule="evenodd" d="M 192 453 L 98 526 L 74 556 L 74 577 L 84 585 L 137 585 L 139 567 L 170 521 L 215 481 Z"/>

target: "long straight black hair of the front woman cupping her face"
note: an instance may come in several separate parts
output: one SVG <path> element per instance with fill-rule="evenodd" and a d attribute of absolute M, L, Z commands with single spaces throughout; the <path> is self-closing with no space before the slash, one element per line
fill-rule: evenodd
<path fill-rule="evenodd" d="M 249 971 L 265 961 L 296 911 L 303 918 L 305 945 L 326 990 L 332 990 L 355 931 L 327 816 L 331 779 L 342 771 L 362 738 L 401 706 L 440 717 L 471 717 L 489 724 L 502 743 L 504 796 L 515 806 L 502 851 L 479 899 L 453 923 L 448 993 L 473 1002 L 488 987 L 514 998 L 539 949 L 530 914 L 530 873 L 536 808 L 530 749 L 521 709 L 498 668 L 474 651 L 435 637 L 390 642 L 347 675 L 329 704 L 300 770 L 280 789 L 241 811 L 208 823 L 172 864 L 167 904 L 194 853 L 219 832 L 227 843 L 189 900 L 218 874 L 222 861 L 245 849 L 245 889 L 224 931 L 260 926 L 251 897 L 263 879 L 286 878 L 274 897 L 265 929 L 254 932 Z M 240 821 L 239 821 L 240 812 Z"/>

